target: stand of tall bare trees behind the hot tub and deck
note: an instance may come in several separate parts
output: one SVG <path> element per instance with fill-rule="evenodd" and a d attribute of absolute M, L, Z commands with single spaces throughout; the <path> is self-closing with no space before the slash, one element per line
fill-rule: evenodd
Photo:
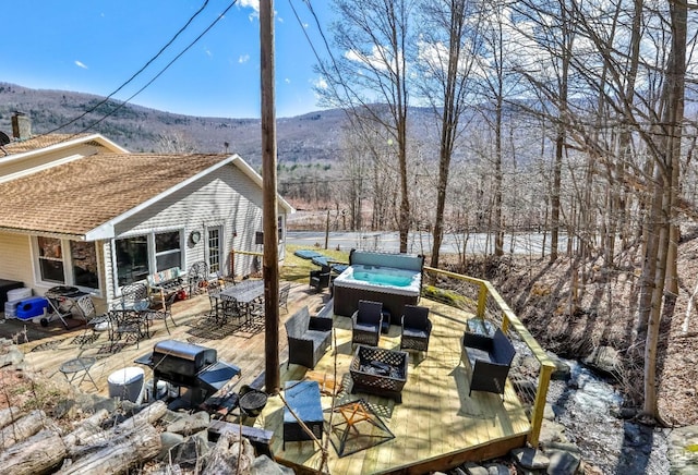
<path fill-rule="evenodd" d="M 334 3 L 344 53 L 317 65 L 318 93 L 348 113 L 327 206 L 351 229 L 398 230 L 404 252 L 431 230 L 432 266 L 444 232 L 489 232 L 501 256 L 505 234 L 543 230 L 581 288 L 586 264 L 636 249 L 633 351 L 657 417 L 659 321 L 697 216 L 695 2 Z"/>

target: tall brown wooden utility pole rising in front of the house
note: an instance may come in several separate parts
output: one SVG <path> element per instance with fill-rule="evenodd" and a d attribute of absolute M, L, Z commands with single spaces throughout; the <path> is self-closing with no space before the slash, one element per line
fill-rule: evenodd
<path fill-rule="evenodd" d="M 279 251 L 276 191 L 276 110 L 274 94 L 274 0 L 260 0 L 262 76 L 262 185 L 264 228 L 264 353 L 265 390 L 280 389 L 279 373 Z"/>

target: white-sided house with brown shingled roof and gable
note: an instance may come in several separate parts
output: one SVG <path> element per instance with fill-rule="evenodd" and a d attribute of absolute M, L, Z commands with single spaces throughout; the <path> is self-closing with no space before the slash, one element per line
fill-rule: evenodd
<path fill-rule="evenodd" d="M 99 134 L 47 135 L 0 155 L 0 279 L 41 295 L 76 287 L 109 304 L 120 288 L 205 260 L 261 270 L 262 176 L 238 155 L 130 154 Z M 279 259 L 286 218 L 278 198 Z"/>

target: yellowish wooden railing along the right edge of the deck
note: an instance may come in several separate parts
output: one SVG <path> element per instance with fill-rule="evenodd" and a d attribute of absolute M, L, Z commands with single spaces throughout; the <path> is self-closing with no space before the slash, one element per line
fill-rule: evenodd
<path fill-rule="evenodd" d="M 464 310 L 474 310 L 478 318 L 498 325 L 510 337 L 516 336 L 538 362 L 538 375 L 535 375 L 538 380 L 531 388 L 532 394 L 530 394 L 531 431 L 528 436 L 528 442 L 537 447 L 543 423 L 547 387 L 555 364 L 489 281 L 433 267 L 424 267 L 424 275 L 426 279 L 422 292 L 425 296 Z M 516 368 L 512 369 L 516 373 Z M 524 388 L 521 393 L 526 392 L 527 385 L 515 383 L 515 386 Z"/>

